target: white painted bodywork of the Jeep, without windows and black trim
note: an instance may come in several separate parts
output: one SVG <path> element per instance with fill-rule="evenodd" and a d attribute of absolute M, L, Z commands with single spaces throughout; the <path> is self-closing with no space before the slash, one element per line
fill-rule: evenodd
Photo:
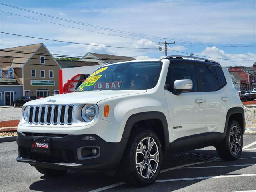
<path fill-rule="evenodd" d="M 243 107 L 228 71 L 223 68 L 227 85 L 217 92 L 182 93 L 177 96 L 164 90 L 170 62 L 168 59 L 161 61 L 162 71 L 158 83 L 152 89 L 74 92 L 32 100 L 23 107 L 49 104 L 78 104 L 79 106 L 88 103 L 96 104 L 99 109 L 98 118 L 92 123 L 82 122 L 81 117 L 78 117 L 81 114 L 81 108 L 76 108 L 74 118 L 77 118 L 77 123 L 75 124 L 29 125 L 22 117 L 18 132 L 96 134 L 107 142 L 120 142 L 128 118 L 133 114 L 151 111 L 162 112 L 165 115 L 169 128 L 169 142 L 204 132 L 224 132 L 228 109 L 234 106 Z M 228 98 L 228 100 L 223 101 L 222 98 Z M 205 102 L 196 103 L 195 100 L 198 99 Z M 105 105 L 110 106 L 108 117 L 104 116 Z M 182 126 L 182 128 L 173 129 L 176 126 Z"/>

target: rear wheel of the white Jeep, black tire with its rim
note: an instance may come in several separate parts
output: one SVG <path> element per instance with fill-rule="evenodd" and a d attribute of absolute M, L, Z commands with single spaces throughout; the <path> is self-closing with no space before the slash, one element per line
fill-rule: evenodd
<path fill-rule="evenodd" d="M 241 156 L 242 148 L 242 129 L 238 122 L 234 120 L 230 121 L 228 123 L 228 129 L 224 141 L 218 144 L 216 147 L 217 153 L 223 160 L 232 161 L 237 160 Z"/>

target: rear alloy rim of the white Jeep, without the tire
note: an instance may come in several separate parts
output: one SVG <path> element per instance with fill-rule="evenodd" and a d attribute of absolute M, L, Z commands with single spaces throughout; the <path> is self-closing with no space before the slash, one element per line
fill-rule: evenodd
<path fill-rule="evenodd" d="M 232 154 L 234 154 L 234 155 L 239 154 L 239 152 L 241 150 L 241 146 L 242 146 L 242 138 L 241 138 L 241 133 L 240 133 L 238 126 L 233 126 L 230 129 L 229 146 L 230 146 L 230 151 L 232 152 Z"/>

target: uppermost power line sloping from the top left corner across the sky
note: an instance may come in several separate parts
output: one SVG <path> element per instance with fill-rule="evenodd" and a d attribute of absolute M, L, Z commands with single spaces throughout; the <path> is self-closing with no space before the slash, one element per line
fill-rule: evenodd
<path fill-rule="evenodd" d="M 55 19 L 58 19 L 58 20 L 72 22 L 72 23 L 75 23 L 75 24 L 81 24 L 81 25 L 85 25 L 85 26 L 89 26 L 89 27 L 93 27 L 93 28 L 98 28 L 98 29 L 108 30 L 108 31 L 112 31 L 112 32 L 133 35 L 133 36 L 140 36 L 140 37 L 144 37 L 144 38 L 153 38 L 153 39 L 158 39 L 158 40 L 163 40 L 164 39 L 163 37 L 158 37 L 158 36 L 149 36 L 149 35 L 144 35 L 144 34 L 139 34 L 139 33 L 126 32 L 126 31 L 122 31 L 122 30 L 116 30 L 116 29 L 112 29 L 112 28 L 106 28 L 106 27 L 102 27 L 102 26 L 86 24 L 86 23 L 82 23 L 82 22 L 78 22 L 78 21 L 74 21 L 74 20 L 68 20 L 68 19 L 65 19 L 65 18 L 56 17 L 56 16 L 52 16 L 52 15 L 48 15 L 48 14 L 43 14 L 43 13 L 40 13 L 40 12 L 35 12 L 35 11 L 32 11 L 32 10 L 27 10 L 27 9 L 24 9 L 24 8 L 8 5 L 8 4 L 4 4 L 4 3 L 0 3 L 0 4 L 2 4 L 4 6 L 11 7 L 11 8 L 16 8 L 16 9 L 19 9 L 19 10 L 23 10 L 23 11 L 26 11 L 26 12 L 31 12 L 31 13 L 34 13 L 34 14 L 39 14 L 39 15 L 42 15 L 42 16 L 47 16 L 47 17 L 50 17 L 50 18 L 55 18 Z M 171 39 L 171 38 L 166 38 L 166 39 L 167 40 L 175 40 L 177 42 L 195 43 L 195 44 L 205 44 L 205 43 L 206 44 L 215 44 L 215 45 L 251 45 L 251 44 L 255 44 L 255 43 L 244 43 L 244 44 L 241 44 L 241 43 L 239 43 L 239 44 L 226 44 L 225 43 L 224 44 L 223 43 L 223 44 L 216 44 L 216 43 L 195 42 L 195 41 L 188 41 L 188 40 L 177 40 L 177 39 Z M 206 46 L 206 45 L 204 45 L 204 46 Z"/>

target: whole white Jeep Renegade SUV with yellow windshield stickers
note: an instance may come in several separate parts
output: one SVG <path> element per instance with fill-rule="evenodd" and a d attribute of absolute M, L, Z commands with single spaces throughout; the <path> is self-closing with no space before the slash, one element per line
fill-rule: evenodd
<path fill-rule="evenodd" d="M 45 175 L 121 171 L 146 186 L 164 154 L 215 146 L 240 157 L 244 108 L 228 70 L 190 56 L 106 64 L 74 92 L 32 100 L 18 126 L 18 162 Z"/>

